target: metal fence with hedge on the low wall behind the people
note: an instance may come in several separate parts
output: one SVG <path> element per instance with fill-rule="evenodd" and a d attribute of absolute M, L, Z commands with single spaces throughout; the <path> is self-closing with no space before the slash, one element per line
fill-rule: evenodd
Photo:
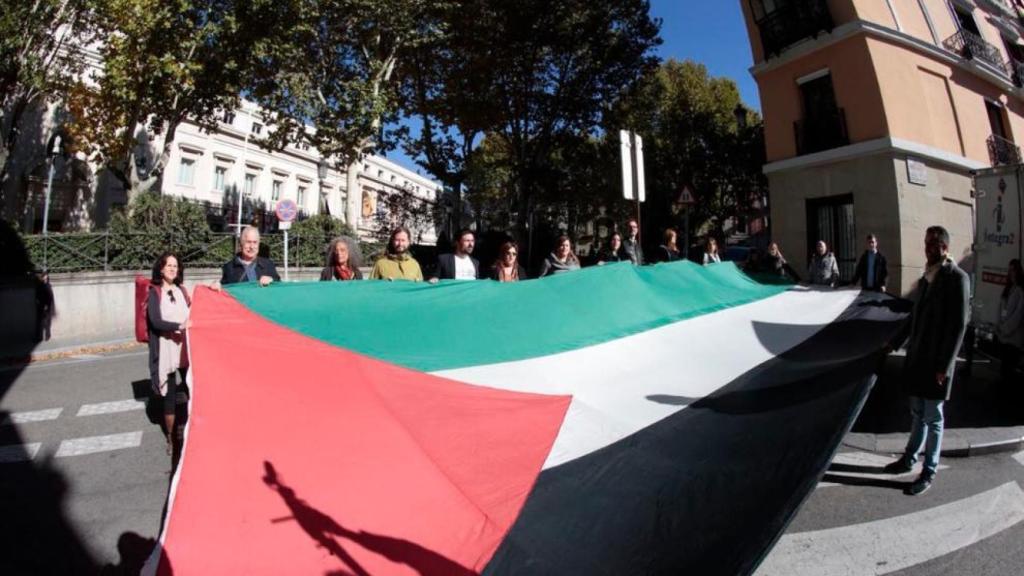
<path fill-rule="evenodd" d="M 236 253 L 233 234 L 203 235 L 119 234 L 112 232 L 50 234 L 22 237 L 33 265 L 39 272 L 109 272 L 148 270 L 164 251 L 178 255 L 187 268 L 220 268 Z M 319 268 L 331 238 L 328 235 L 289 235 L 289 265 Z M 373 250 L 373 246 L 366 246 Z M 284 262 L 283 234 L 260 238 L 260 254 Z"/>

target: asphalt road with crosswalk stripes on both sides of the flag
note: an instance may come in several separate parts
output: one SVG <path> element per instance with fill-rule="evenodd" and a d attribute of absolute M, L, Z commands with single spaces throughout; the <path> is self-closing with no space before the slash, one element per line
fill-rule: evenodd
<path fill-rule="evenodd" d="M 0 369 L 0 574 L 134 573 L 170 457 L 132 351 Z M 1024 573 L 1024 453 L 942 461 L 934 487 L 844 449 L 758 574 Z"/>

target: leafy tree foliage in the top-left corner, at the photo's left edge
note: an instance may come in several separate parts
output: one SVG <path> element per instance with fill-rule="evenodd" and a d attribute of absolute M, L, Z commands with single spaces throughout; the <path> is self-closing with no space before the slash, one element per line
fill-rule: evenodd
<path fill-rule="evenodd" d="M 57 96 L 81 72 L 91 40 L 87 0 L 26 0 L 0 11 L 0 206 L 23 117 Z"/>

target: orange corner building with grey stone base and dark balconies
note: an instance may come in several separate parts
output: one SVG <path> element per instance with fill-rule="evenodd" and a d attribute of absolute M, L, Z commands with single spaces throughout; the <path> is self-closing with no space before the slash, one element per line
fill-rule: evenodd
<path fill-rule="evenodd" d="M 1020 0 L 739 0 L 761 93 L 773 239 L 797 270 L 825 240 L 849 280 L 864 237 L 889 291 L 946 227 L 970 269 L 972 170 L 1020 162 Z"/>

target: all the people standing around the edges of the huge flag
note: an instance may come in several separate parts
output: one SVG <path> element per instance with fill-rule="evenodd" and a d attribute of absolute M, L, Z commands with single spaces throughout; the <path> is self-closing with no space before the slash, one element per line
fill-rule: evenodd
<path fill-rule="evenodd" d="M 398 228 L 390 235 L 385 254 L 374 262 L 369 278 L 372 280 L 423 281 L 419 262 L 410 252 L 410 234 Z M 659 246 L 663 260 L 679 259 L 674 230 L 666 231 Z M 519 262 L 519 248 L 514 241 L 504 242 L 497 259 L 486 268 L 473 257 L 475 235 L 462 231 L 456 239 L 454 251 L 438 257 L 436 272 L 427 279 L 477 280 L 516 282 L 528 278 Z M 238 254 L 221 270 L 220 284 L 255 282 L 267 286 L 279 282 L 273 262 L 259 255 L 260 237 L 255 228 L 242 231 Z M 949 256 L 949 233 L 942 227 L 928 229 L 925 238 L 927 268 L 911 294 L 913 302 L 907 354 L 904 366 L 906 389 L 910 396 L 912 429 L 904 455 L 886 467 L 890 472 L 909 471 L 925 447 L 924 471 L 907 489 L 909 494 L 927 490 L 935 478 L 942 441 L 942 404 L 949 399 L 953 368 L 970 316 L 970 284 L 968 276 Z M 644 262 L 636 220 L 627 225 L 627 236 L 612 234 L 600 252 L 598 264 L 607 262 Z M 703 263 L 720 261 L 718 245 L 714 239 L 705 244 Z M 768 247 L 760 262 L 764 270 L 792 276 L 799 280 L 782 256 L 776 243 Z M 322 281 L 360 280 L 360 254 L 358 244 L 351 238 L 339 237 L 331 242 L 327 261 L 321 272 Z M 568 237 L 561 236 L 554 250 L 545 258 L 540 277 L 562 274 L 581 268 Z M 835 256 L 824 242 L 818 242 L 811 258 L 808 276 L 812 284 L 836 286 L 839 271 Z M 884 292 L 888 279 L 885 256 L 879 251 L 878 238 L 868 235 L 866 247 L 858 259 L 853 283 L 864 290 Z M 147 298 L 147 325 L 150 330 L 150 369 L 155 394 L 163 398 L 167 429 L 168 451 L 176 454 L 175 396 L 176 383 L 183 381 L 188 369 L 187 338 L 191 325 L 188 318 L 190 300 L 183 286 L 184 266 L 173 253 L 157 259 L 151 279 Z M 1010 262 L 1010 274 L 1002 291 L 998 335 L 1004 349 L 1005 377 L 1013 374 L 1024 348 L 1024 271 L 1020 260 Z M 176 377 L 176 375 L 178 377 Z"/>

